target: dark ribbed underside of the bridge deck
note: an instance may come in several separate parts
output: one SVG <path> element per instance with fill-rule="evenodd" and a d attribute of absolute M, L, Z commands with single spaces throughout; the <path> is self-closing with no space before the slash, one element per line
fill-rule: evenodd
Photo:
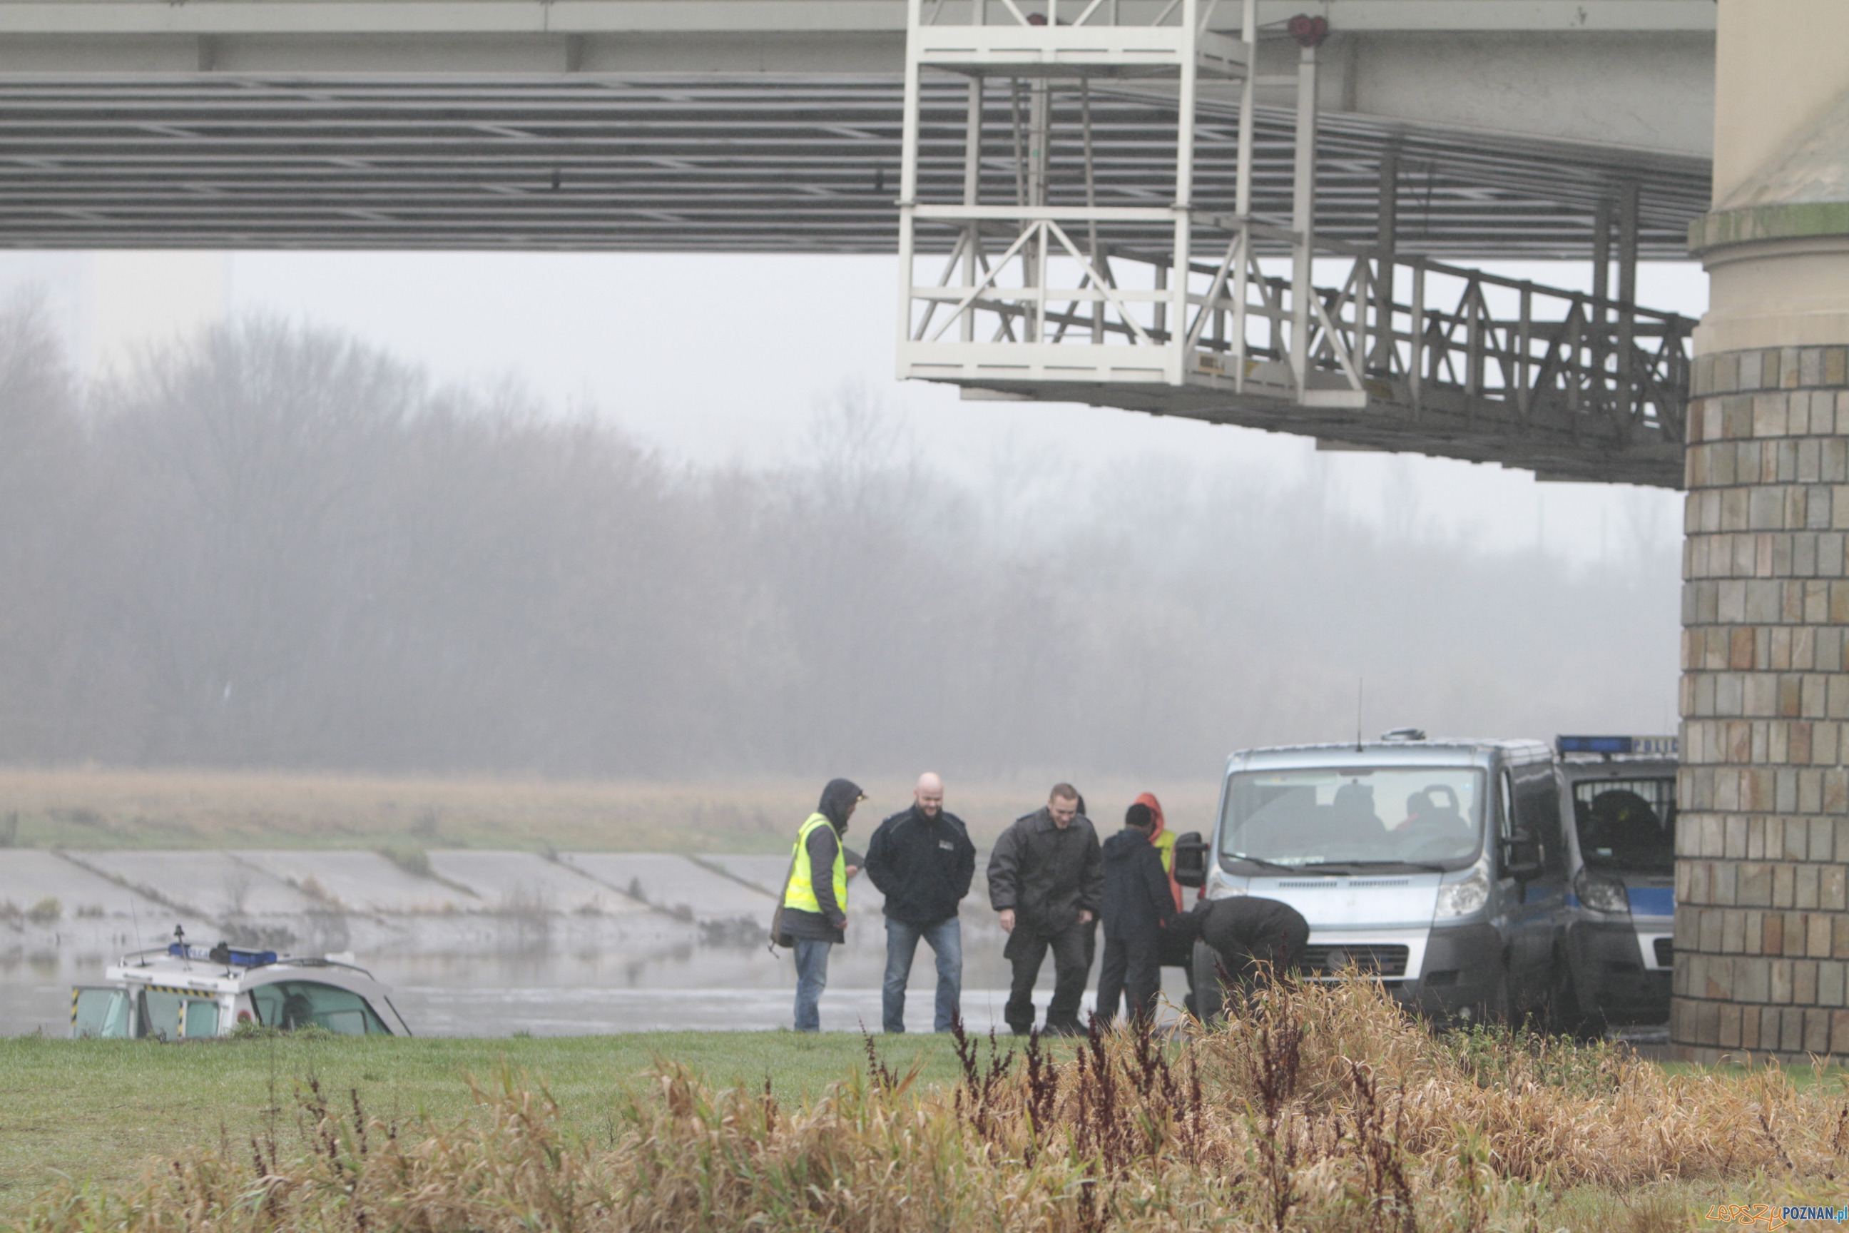
<path fill-rule="evenodd" d="M 926 131 L 965 87 L 923 85 Z M 1172 87 L 1093 91 L 1100 200 L 1174 196 Z M 1254 214 L 1291 214 L 1292 116 L 1259 104 Z M 889 253 L 902 83 L 893 74 L 0 72 L 0 246 Z M 1010 100 L 986 102 L 984 198 L 1013 196 Z M 1231 209 L 1237 107 L 1202 98 L 1196 205 Z M 1316 229 L 1372 244 L 1400 166 L 1400 251 L 1577 257 L 1596 203 L 1642 185 L 1640 257 L 1683 257 L 1708 161 L 1361 113 L 1318 120 Z M 961 192 L 961 140 L 919 152 Z M 1076 200 L 1056 144 L 1048 201 Z M 924 251 L 930 242 L 924 242 Z"/>

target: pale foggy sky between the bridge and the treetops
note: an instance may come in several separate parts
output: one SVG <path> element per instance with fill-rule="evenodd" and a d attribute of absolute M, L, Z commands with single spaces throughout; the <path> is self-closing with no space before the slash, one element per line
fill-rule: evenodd
<path fill-rule="evenodd" d="M 1501 262 L 1585 287 L 1585 262 Z M 349 331 L 436 381 L 516 379 L 553 410 L 619 423 L 677 462 L 795 458 L 817 401 L 858 385 L 958 482 L 1030 457 L 1080 470 L 1119 457 L 1259 468 L 1328 484 L 1357 518 L 1488 549 L 1609 560 L 1633 521 L 1679 540 L 1679 494 L 1537 484 L 1527 471 L 1416 455 L 1326 455 L 1300 436 L 1111 409 L 960 403 L 893 379 L 891 257 L 651 253 L 9 253 L 0 287 L 35 283 L 80 375 L 144 344 L 264 312 Z M 1697 316 L 1692 262 L 1646 262 L 1640 299 Z"/>

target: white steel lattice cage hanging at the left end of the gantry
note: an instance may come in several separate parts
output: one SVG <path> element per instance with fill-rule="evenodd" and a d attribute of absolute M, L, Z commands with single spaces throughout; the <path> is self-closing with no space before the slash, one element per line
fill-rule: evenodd
<path fill-rule="evenodd" d="M 900 373 L 969 385 L 984 385 L 989 375 L 1015 385 L 1061 373 L 1059 379 L 1169 386 L 1213 381 L 1209 373 L 1224 373 L 1224 318 L 1228 309 L 1235 309 L 1226 299 L 1226 275 L 1231 274 L 1243 285 L 1241 290 L 1246 290 L 1244 285 L 1259 274 L 1252 261 L 1250 226 L 1243 218 L 1194 214 L 1194 126 L 1207 79 L 1226 78 L 1241 83 L 1246 98 L 1252 94 L 1255 2 L 1244 0 L 1244 41 L 1206 28 L 1213 20 L 1213 0 L 1172 0 L 1159 18 L 1150 17 L 1154 9 L 1124 11 L 1122 18 L 1130 26 L 1117 24 L 1119 6 L 1111 0 L 1063 6 L 1069 24 L 1054 20 L 1041 0 L 1032 6 L 1000 0 L 1008 9 L 1006 18 L 991 0 L 971 0 L 969 6 L 956 6 L 956 17 L 967 15 L 969 26 L 945 24 L 947 4 L 949 0 L 906 0 L 899 248 L 906 268 L 902 320 L 908 331 L 900 338 Z M 1076 17 L 1072 7 L 1080 9 Z M 1024 9 L 1037 11 L 1030 15 Z M 1000 24 L 989 26 L 989 15 Z M 1113 20 L 1100 24 L 1104 15 Z M 1174 142 L 1174 190 L 1169 201 L 1111 200 L 1096 174 L 1093 111 L 1098 102 L 1091 78 L 1122 76 L 1126 65 L 1132 76 L 1161 78 L 1176 89 L 1170 113 L 1174 129 L 1167 135 Z M 956 126 L 956 137 L 939 133 L 937 126 L 949 116 L 939 118 L 936 111 L 921 115 L 921 96 L 926 87 L 936 91 L 937 72 L 967 78 L 961 83 L 967 87 L 967 113 L 963 124 Z M 997 96 L 1000 89 L 1008 91 L 1006 100 Z M 986 131 L 986 111 L 997 120 L 1006 118 L 1011 129 L 1013 194 L 1000 189 L 993 176 L 984 183 L 993 170 L 984 166 L 986 139 L 989 144 L 1010 140 Z M 1074 118 L 1076 131 L 1067 128 Z M 926 124 L 932 126 L 928 133 L 923 131 Z M 1246 209 L 1252 198 L 1252 128 L 1254 109 L 1248 107 L 1241 120 L 1246 150 L 1241 200 Z M 1074 205 L 1080 185 L 1065 179 L 1054 183 L 1048 177 L 1050 142 L 1069 135 L 1084 139 L 1084 205 Z M 963 153 L 961 192 L 928 176 L 930 168 L 919 166 L 924 148 L 939 150 L 952 142 Z M 1061 155 L 1067 153 L 1076 155 L 1078 150 L 1061 146 Z M 1056 196 L 1058 203 L 1052 201 Z M 1194 272 L 1202 261 L 1194 253 L 1196 231 L 1215 237 L 1215 264 L 1230 251 L 1237 257 L 1226 262 L 1220 285 L 1209 296 L 1202 296 L 1200 275 Z M 1230 248 L 1222 233 L 1231 233 Z M 936 281 L 924 285 L 928 279 L 919 279 L 910 270 L 921 253 L 939 251 L 947 238 L 952 244 L 945 272 L 937 277 L 934 268 Z M 1122 262 L 1139 270 L 1126 274 L 1120 285 L 1113 264 Z M 1267 301 L 1285 307 L 1283 292 L 1268 294 Z M 1241 353 L 1246 351 L 1244 327 L 1250 312 L 1274 316 L 1268 307 L 1244 309 L 1244 320 L 1235 322 L 1241 336 L 1233 342 Z M 932 314 L 937 316 L 936 324 Z M 1000 318 L 993 336 L 987 335 L 991 314 Z M 1202 336 L 1207 314 L 1213 316 L 1213 340 Z M 1089 348 L 1093 355 L 1082 357 L 1067 349 L 1082 342 L 1078 335 L 1087 335 L 1095 344 Z M 1128 348 L 1133 353 L 1119 353 Z M 1235 364 L 1239 377 L 1244 375 L 1243 368 Z M 1267 373 L 1270 388 L 1285 383 L 1287 379 Z"/>

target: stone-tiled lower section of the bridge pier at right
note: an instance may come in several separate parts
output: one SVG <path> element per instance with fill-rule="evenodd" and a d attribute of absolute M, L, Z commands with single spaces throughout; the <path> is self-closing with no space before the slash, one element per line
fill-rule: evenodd
<path fill-rule="evenodd" d="M 1694 392 L 1670 1037 L 1849 1056 L 1849 348 Z"/>

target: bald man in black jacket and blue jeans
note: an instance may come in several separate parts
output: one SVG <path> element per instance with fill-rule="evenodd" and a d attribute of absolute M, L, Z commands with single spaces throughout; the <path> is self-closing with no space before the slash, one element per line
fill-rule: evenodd
<path fill-rule="evenodd" d="M 956 906 L 976 874 L 976 845 L 956 813 L 943 812 L 943 780 L 926 771 L 912 808 L 893 813 L 867 845 L 867 876 L 886 895 L 886 985 L 880 996 L 888 1032 L 906 1030 L 906 980 L 919 939 L 937 956 L 934 1028 L 949 1032 L 963 998 L 963 930 Z"/>

